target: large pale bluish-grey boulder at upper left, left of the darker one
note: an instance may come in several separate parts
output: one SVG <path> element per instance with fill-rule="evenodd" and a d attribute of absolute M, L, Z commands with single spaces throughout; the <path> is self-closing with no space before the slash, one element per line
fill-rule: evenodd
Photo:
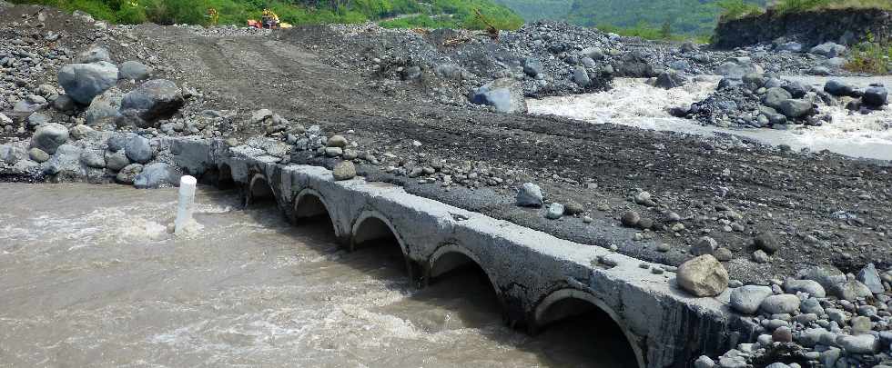
<path fill-rule="evenodd" d="M 117 66 L 108 62 L 70 64 L 59 70 L 59 85 L 78 104 L 90 104 L 115 84 Z"/>

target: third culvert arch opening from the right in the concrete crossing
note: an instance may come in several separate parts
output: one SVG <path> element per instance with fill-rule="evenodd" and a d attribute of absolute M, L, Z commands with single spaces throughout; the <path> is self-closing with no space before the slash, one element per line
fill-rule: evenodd
<path fill-rule="evenodd" d="M 353 252 L 373 252 L 383 257 L 385 264 L 404 264 L 401 267 L 411 281 L 416 280 L 420 267 L 412 262 L 400 234 L 386 217 L 367 212 L 353 225 L 350 236 L 350 250 Z M 400 262 L 401 261 L 401 262 Z"/>

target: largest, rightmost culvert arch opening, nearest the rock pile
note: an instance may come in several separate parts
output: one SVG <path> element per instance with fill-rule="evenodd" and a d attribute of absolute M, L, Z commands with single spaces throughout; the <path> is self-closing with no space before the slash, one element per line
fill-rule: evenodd
<path fill-rule="evenodd" d="M 553 359 L 567 356 L 605 367 L 645 366 L 634 336 L 617 323 L 610 307 L 590 293 L 567 289 L 546 297 L 536 308 L 534 331 L 540 339 L 560 347 Z"/>

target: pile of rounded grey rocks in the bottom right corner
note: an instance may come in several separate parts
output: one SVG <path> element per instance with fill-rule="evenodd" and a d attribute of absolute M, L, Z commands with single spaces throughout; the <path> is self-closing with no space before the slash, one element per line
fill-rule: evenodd
<path fill-rule="evenodd" d="M 855 275 L 821 265 L 797 276 L 732 290 L 731 308 L 763 333 L 694 366 L 892 366 L 892 269 L 867 264 Z"/>

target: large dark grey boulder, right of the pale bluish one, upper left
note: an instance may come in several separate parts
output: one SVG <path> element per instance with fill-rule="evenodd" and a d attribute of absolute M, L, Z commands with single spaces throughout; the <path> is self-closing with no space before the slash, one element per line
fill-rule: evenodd
<path fill-rule="evenodd" d="M 136 112 L 140 119 L 151 124 L 176 114 L 185 103 L 177 84 L 167 79 L 154 79 L 124 94 L 121 112 Z"/>

